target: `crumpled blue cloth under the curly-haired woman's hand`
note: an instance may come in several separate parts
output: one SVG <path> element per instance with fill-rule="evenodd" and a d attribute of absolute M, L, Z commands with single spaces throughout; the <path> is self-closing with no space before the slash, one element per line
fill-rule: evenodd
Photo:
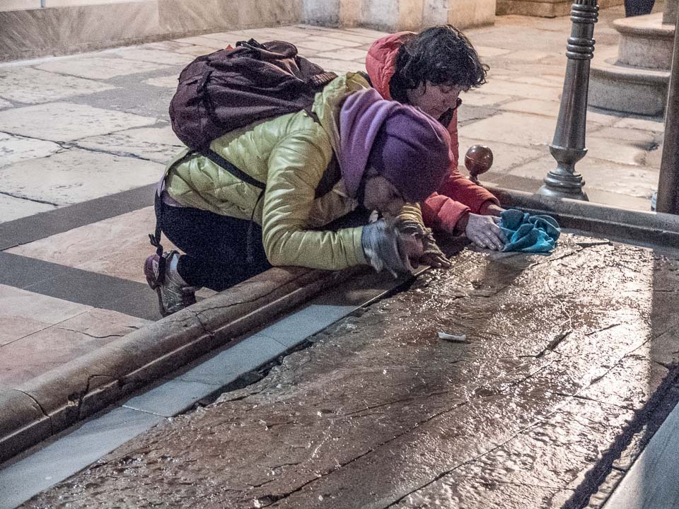
<path fill-rule="evenodd" d="M 561 235 L 555 218 L 531 216 L 516 209 L 500 214 L 499 227 L 507 236 L 503 251 L 552 252 Z"/>

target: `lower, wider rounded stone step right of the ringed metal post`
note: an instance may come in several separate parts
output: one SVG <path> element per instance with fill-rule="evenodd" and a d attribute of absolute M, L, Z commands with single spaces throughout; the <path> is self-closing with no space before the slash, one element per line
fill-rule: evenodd
<path fill-rule="evenodd" d="M 637 115 L 663 115 L 670 71 L 626 66 L 617 49 L 595 52 L 591 64 L 588 104 Z"/>

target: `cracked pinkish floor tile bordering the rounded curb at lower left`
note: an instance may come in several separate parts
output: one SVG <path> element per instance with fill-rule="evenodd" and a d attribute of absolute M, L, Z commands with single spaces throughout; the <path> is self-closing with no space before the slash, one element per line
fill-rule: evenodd
<path fill-rule="evenodd" d="M 149 323 L 119 312 L 91 308 L 26 334 L 0 347 L 0 390 L 18 387 Z"/>

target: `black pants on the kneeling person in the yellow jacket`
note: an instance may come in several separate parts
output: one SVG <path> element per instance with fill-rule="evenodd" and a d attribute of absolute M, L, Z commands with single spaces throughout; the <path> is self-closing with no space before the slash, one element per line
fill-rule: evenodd
<path fill-rule="evenodd" d="M 163 233 L 186 254 L 178 271 L 191 286 L 222 291 L 271 267 L 262 245 L 262 228 L 253 221 L 163 203 L 156 196 L 156 219 Z M 248 263 L 248 228 L 253 253 Z"/>

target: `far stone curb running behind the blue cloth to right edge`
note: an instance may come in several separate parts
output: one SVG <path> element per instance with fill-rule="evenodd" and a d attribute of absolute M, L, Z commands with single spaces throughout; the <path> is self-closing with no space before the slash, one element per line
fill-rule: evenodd
<path fill-rule="evenodd" d="M 679 216 L 674 214 L 631 211 L 590 201 L 547 197 L 491 185 L 485 187 L 498 197 L 503 206 L 516 207 L 529 213 L 550 214 L 564 228 L 637 243 L 679 246 Z"/>

